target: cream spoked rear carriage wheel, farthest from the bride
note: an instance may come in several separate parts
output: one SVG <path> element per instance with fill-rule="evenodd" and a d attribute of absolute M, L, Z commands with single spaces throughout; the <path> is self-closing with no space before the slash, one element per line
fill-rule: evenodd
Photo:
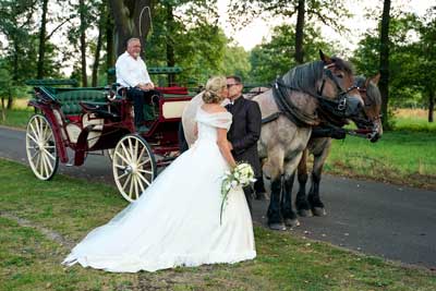
<path fill-rule="evenodd" d="M 34 174 L 40 180 L 50 180 L 59 166 L 53 129 L 46 117 L 35 114 L 27 123 L 26 154 Z"/>

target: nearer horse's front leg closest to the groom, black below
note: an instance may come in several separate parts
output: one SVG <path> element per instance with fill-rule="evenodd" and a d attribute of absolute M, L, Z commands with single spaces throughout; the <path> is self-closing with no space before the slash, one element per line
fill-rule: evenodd
<path fill-rule="evenodd" d="M 267 211 L 268 227 L 272 230 L 286 230 L 281 216 L 280 201 L 283 180 L 283 153 L 282 150 L 271 151 L 274 157 L 268 158 L 268 166 L 271 169 L 271 195 Z"/>

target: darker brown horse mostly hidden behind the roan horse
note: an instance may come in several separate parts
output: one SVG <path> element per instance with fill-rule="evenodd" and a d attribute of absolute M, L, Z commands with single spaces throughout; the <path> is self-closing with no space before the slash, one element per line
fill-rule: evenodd
<path fill-rule="evenodd" d="M 377 142 L 383 135 L 383 125 L 380 120 L 382 96 L 377 87 L 378 80 L 379 74 L 371 78 L 365 78 L 363 76 L 358 76 L 355 78 L 355 85 L 358 86 L 359 93 L 361 94 L 365 106 L 362 116 L 351 118 L 356 123 L 359 130 L 348 131 L 349 134 L 367 137 L 373 143 Z M 316 137 L 317 131 L 318 136 L 320 135 L 320 137 Z M 326 135 L 326 137 L 323 137 L 323 134 Z M 344 134 L 346 130 L 334 126 L 314 129 L 312 137 L 307 144 L 307 148 L 304 150 L 298 167 L 298 181 L 300 187 L 295 197 L 295 208 L 300 216 L 306 217 L 312 215 L 326 215 L 324 204 L 319 197 L 319 183 L 323 167 L 331 147 L 331 137 L 328 136 L 334 136 L 335 138 L 344 138 Z M 306 196 L 306 163 L 308 155 L 314 156 L 314 162 L 312 169 L 311 189 Z"/>

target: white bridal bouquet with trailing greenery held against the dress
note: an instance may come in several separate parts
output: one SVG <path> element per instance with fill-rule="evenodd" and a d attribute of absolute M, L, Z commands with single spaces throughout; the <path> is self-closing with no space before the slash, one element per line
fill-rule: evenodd
<path fill-rule="evenodd" d="M 251 182 L 255 182 L 254 171 L 252 166 L 246 162 L 239 163 L 231 171 L 226 171 L 221 183 L 221 209 L 219 214 L 219 222 L 222 222 L 222 211 L 229 197 L 229 192 L 232 189 L 247 186 Z"/>

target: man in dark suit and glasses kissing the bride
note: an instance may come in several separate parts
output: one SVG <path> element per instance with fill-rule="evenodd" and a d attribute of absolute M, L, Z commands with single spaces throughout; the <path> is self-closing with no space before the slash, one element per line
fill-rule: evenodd
<path fill-rule="evenodd" d="M 227 77 L 230 104 L 226 105 L 226 109 L 233 116 L 227 138 L 231 144 L 234 159 L 237 161 L 249 162 L 253 167 L 257 180 L 255 185 L 256 195 L 264 196 L 264 180 L 262 178 L 261 161 L 257 153 L 257 141 L 261 137 L 262 126 L 261 108 L 257 102 L 245 99 L 242 96 L 243 87 L 241 77 Z M 244 193 L 250 210 L 252 210 L 252 187 L 244 187 Z"/>

